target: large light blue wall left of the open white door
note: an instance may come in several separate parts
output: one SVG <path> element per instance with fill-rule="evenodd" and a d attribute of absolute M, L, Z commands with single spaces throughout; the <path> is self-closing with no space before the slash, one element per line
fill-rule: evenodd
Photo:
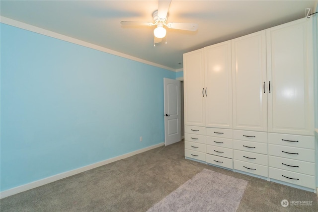
<path fill-rule="evenodd" d="M 0 27 L 1 191 L 164 141 L 175 72 Z"/>

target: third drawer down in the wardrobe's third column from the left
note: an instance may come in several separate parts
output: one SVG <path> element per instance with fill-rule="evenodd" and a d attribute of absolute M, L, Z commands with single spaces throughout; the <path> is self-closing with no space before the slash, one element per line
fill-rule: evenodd
<path fill-rule="evenodd" d="M 233 150 L 233 159 L 242 160 L 250 163 L 256 163 L 264 166 L 268 165 L 267 154 L 258 154 L 248 151 Z"/>

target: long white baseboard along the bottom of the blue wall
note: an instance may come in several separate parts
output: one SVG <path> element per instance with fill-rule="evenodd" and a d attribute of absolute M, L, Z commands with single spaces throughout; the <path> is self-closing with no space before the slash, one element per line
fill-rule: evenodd
<path fill-rule="evenodd" d="M 6 191 L 0 192 L 0 199 L 8 197 L 8 196 L 11 196 L 11 195 L 14 195 L 14 194 L 18 194 L 20 192 L 24 192 L 24 191 L 27 191 L 27 190 L 30 190 L 30 189 L 33 189 L 33 188 L 36 188 L 36 187 L 39 187 L 39 186 L 43 186 L 45 184 L 52 183 L 54 181 L 61 180 L 61 179 L 66 178 L 66 177 L 70 177 L 72 175 L 79 174 L 80 172 L 84 172 L 84 171 L 87 171 L 87 170 L 90 170 L 90 169 L 93 169 L 93 168 L 97 168 L 99 166 L 103 166 L 103 165 L 106 165 L 108 163 L 115 162 L 117 160 L 125 159 L 127 157 L 131 157 L 133 155 L 136 155 L 136 154 L 139 154 L 139 153 L 142 153 L 142 152 L 145 152 L 145 151 L 148 151 L 150 149 L 154 149 L 154 148 L 157 148 L 157 147 L 163 146 L 163 145 L 164 145 L 164 142 L 156 144 L 156 145 L 152 145 L 152 146 L 149 146 L 149 147 L 146 147 L 146 148 L 142 148 L 142 149 L 139 149 L 139 150 L 127 153 L 127 154 L 119 155 L 117 157 L 113 157 L 113 158 L 110 158 L 110 159 L 107 159 L 107 160 L 103 160 L 103 161 L 100 161 L 100 162 L 97 162 L 97 163 L 93 163 L 93 164 L 90 164 L 88 166 L 83 166 L 83 167 L 78 168 L 78 169 L 74 169 L 74 170 L 67 171 L 67 172 L 64 172 L 64 173 L 61 173 L 61 174 L 53 175 L 51 177 L 47 177 L 47 178 L 44 178 L 44 179 L 41 179 L 41 180 L 37 180 L 37 181 L 34 181 L 32 183 L 28 183 L 28 184 L 25 184 L 25 185 L 22 185 L 22 186 L 18 186 L 18 187 L 12 188 L 12 189 L 8 189 Z"/>

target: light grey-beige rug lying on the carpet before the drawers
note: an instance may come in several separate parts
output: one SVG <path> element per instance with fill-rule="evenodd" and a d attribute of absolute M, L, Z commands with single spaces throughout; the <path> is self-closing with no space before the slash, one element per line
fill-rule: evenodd
<path fill-rule="evenodd" d="M 235 212 L 247 183 L 203 169 L 148 212 Z"/>

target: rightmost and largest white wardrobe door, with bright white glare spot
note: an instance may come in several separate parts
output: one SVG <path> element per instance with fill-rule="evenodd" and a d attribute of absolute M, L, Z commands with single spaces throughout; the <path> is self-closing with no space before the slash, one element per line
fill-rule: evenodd
<path fill-rule="evenodd" d="M 268 132 L 314 135 L 312 18 L 266 32 Z"/>

